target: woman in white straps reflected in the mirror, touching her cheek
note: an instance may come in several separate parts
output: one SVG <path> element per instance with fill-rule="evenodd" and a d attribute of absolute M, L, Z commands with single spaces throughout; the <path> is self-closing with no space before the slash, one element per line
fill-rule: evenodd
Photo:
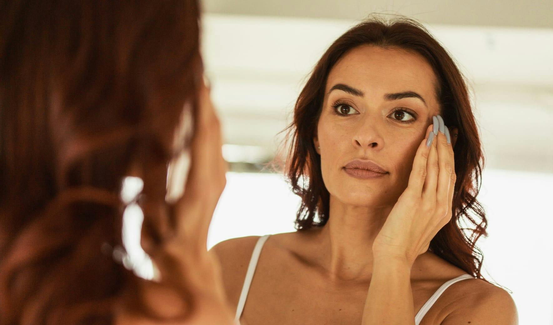
<path fill-rule="evenodd" d="M 371 19 L 348 30 L 315 66 L 290 132 L 298 231 L 213 248 L 236 318 L 517 324 L 509 293 L 482 279 L 474 253 L 486 217 L 467 87 L 424 27 Z M 469 236 L 465 218 L 476 225 Z"/>

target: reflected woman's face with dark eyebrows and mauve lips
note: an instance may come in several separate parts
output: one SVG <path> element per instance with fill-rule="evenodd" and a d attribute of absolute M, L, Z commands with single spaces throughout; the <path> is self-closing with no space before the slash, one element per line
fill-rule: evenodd
<path fill-rule="evenodd" d="M 341 57 L 328 75 L 314 138 L 331 196 L 367 207 L 397 201 L 426 128 L 439 114 L 435 85 L 431 66 L 405 50 L 364 45 Z M 353 160 L 371 160 L 386 172 L 370 177 L 345 168 Z"/>

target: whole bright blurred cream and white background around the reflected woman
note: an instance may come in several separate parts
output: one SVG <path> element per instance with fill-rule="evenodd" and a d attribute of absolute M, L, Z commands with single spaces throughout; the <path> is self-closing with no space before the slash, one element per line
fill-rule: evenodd
<path fill-rule="evenodd" d="M 486 165 L 484 277 L 520 324 L 553 324 L 553 2 L 206 0 L 202 52 L 223 127 L 227 186 L 208 248 L 294 231 L 299 198 L 264 169 L 328 46 L 371 13 L 418 19 L 468 79 Z"/>

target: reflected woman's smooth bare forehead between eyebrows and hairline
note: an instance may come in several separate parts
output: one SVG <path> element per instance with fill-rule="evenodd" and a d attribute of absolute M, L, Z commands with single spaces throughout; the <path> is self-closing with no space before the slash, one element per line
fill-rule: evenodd
<path fill-rule="evenodd" d="M 328 74 L 326 92 L 345 83 L 366 93 L 416 91 L 430 96 L 436 76 L 424 57 L 403 49 L 359 46 L 343 55 Z"/>

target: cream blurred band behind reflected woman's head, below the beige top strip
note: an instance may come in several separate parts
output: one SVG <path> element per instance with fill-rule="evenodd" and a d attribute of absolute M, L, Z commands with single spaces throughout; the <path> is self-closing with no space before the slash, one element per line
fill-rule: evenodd
<path fill-rule="evenodd" d="M 203 54 L 225 143 L 273 154 L 312 66 L 354 23 L 206 14 Z M 427 27 L 468 78 L 486 166 L 553 172 L 553 29 Z"/>

